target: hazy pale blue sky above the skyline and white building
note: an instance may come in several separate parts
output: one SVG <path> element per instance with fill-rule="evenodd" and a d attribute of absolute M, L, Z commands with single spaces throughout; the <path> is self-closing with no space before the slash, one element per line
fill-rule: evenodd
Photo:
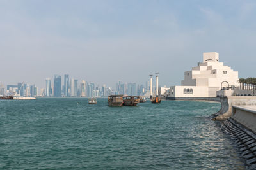
<path fill-rule="evenodd" d="M 255 77 L 255 39 L 256 1 L 0 0 L 0 81 L 180 85 L 203 52 Z"/>

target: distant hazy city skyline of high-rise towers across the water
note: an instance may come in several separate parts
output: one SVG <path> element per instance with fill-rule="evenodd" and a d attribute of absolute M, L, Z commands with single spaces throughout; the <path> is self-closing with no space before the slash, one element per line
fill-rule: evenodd
<path fill-rule="evenodd" d="M 100 85 L 92 81 L 77 80 L 69 74 L 54 74 L 52 78 L 45 78 L 45 86 L 38 87 L 26 82 L 4 85 L 0 82 L 0 96 L 12 95 L 16 97 L 107 97 L 111 94 L 128 96 L 149 96 L 149 81 L 144 83 L 116 81 L 115 87 Z M 161 87 L 161 86 L 159 86 Z M 156 91 L 156 86 L 153 85 Z M 157 92 L 157 91 L 156 91 Z"/>

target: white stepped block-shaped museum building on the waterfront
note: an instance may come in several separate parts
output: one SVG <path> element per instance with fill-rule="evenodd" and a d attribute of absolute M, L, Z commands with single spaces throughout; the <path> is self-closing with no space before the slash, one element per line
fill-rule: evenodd
<path fill-rule="evenodd" d="M 239 86 L 238 80 L 238 72 L 224 66 L 219 53 L 207 52 L 203 53 L 203 62 L 186 71 L 181 85 L 171 86 L 166 96 L 169 99 L 216 97 L 222 87 Z"/>

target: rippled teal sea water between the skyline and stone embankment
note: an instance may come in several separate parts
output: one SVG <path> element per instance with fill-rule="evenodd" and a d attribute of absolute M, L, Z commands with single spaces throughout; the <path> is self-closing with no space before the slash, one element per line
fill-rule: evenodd
<path fill-rule="evenodd" d="M 78 103 L 78 104 L 77 104 Z M 244 169 L 218 103 L 0 101 L 0 169 Z"/>

